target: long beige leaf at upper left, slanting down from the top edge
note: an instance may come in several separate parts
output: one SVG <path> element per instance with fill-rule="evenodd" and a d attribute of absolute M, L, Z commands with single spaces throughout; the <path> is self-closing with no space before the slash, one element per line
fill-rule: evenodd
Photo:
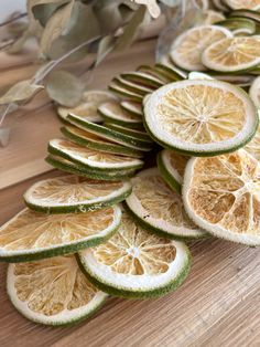
<path fill-rule="evenodd" d="M 51 17 L 46 27 L 43 31 L 40 51 L 41 54 L 46 55 L 52 46 L 52 43 L 63 33 L 66 25 L 69 22 L 69 18 L 72 14 L 73 6 L 75 0 L 72 0 L 69 3 L 63 6 Z"/>

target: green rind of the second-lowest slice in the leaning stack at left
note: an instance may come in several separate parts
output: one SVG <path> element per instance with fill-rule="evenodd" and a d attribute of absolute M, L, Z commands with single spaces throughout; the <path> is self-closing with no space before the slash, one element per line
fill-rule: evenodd
<path fill-rule="evenodd" d="M 118 165 L 118 162 L 117 162 L 117 164 L 115 164 L 115 167 L 111 167 L 111 166 L 99 167 L 98 165 L 96 166 L 95 162 L 93 165 L 89 165 L 86 161 L 83 161 L 80 158 L 77 159 L 75 156 L 66 153 L 63 149 L 57 148 L 55 146 L 55 139 L 51 140 L 48 143 L 47 151 L 54 156 L 59 156 L 59 157 L 63 157 L 65 159 L 73 161 L 77 165 L 80 165 L 82 167 L 85 167 L 86 169 L 90 169 L 90 170 L 98 171 L 98 172 L 115 172 L 115 171 L 118 172 L 121 169 L 122 170 L 124 170 L 124 169 L 129 170 L 129 169 L 140 169 L 143 167 L 143 161 L 138 159 L 138 158 L 132 158 L 131 164 L 124 161 L 124 162 L 120 162 L 120 165 Z M 121 158 L 123 158 L 123 156 Z"/>

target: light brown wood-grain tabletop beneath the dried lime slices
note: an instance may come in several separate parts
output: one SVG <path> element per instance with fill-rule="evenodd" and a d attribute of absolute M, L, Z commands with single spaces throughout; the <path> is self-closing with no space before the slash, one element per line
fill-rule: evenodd
<path fill-rule="evenodd" d="M 154 42 L 148 41 L 112 55 L 97 70 L 91 87 L 152 62 L 153 49 Z M 1 84 L 32 71 L 30 65 L 11 66 L 1 72 Z M 43 160 L 58 127 L 47 104 L 23 116 L 10 146 L 0 149 L 0 224 L 21 210 L 28 187 L 58 175 Z M 191 250 L 192 272 L 175 293 L 149 301 L 110 298 L 93 318 L 67 328 L 37 326 L 17 313 L 6 293 L 7 265 L 0 264 L 0 346 L 260 346 L 260 251 L 215 239 L 196 242 Z"/>

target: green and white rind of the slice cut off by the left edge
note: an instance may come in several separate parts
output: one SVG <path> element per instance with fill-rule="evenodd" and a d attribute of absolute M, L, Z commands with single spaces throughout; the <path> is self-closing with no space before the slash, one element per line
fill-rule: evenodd
<path fill-rule="evenodd" d="M 109 231 L 105 235 L 97 235 L 96 238 L 93 238 L 89 240 L 74 241 L 74 242 L 71 242 L 69 244 L 55 245 L 55 246 L 50 246 L 50 248 L 45 248 L 45 249 L 42 248 L 39 250 L 33 249 L 30 251 L 24 251 L 24 250 L 23 251 L 9 251 L 8 252 L 9 255 L 7 254 L 7 252 L 4 254 L 3 251 L 1 250 L 0 262 L 20 263 L 20 262 L 36 261 L 36 260 L 42 260 L 42 259 L 57 256 L 57 255 L 76 253 L 76 252 L 82 251 L 84 249 L 94 248 L 100 243 L 104 243 L 107 240 L 109 240 L 117 232 L 117 230 L 120 225 L 121 212 L 120 212 L 120 209 L 118 207 L 115 207 L 115 209 L 116 209 L 117 220 L 113 222 L 112 228 L 111 227 L 108 228 Z M 12 219 L 10 221 L 12 221 Z M 1 227 L 1 229 L 6 224 L 3 224 Z M 12 253 L 12 254 L 10 254 L 10 253 Z"/>

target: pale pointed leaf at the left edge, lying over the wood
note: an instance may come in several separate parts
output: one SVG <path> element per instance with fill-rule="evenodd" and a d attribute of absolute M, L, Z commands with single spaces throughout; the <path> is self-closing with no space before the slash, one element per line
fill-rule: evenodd
<path fill-rule="evenodd" d="M 0 105 L 26 101 L 42 88 L 42 85 L 32 84 L 30 80 L 18 82 L 0 97 Z"/>

